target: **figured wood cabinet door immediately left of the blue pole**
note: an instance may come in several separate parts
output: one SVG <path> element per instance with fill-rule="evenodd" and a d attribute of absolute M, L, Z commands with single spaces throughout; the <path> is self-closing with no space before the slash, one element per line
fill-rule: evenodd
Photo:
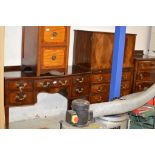
<path fill-rule="evenodd" d="M 110 69 L 112 65 L 114 34 L 94 32 L 92 37 L 92 70 Z"/>

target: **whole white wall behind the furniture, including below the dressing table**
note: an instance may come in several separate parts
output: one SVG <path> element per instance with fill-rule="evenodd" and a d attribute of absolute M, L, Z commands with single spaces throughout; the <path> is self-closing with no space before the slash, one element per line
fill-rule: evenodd
<path fill-rule="evenodd" d="M 70 48 L 69 48 L 69 65 L 72 65 L 74 30 L 90 30 L 114 32 L 114 26 L 74 26 L 71 27 Z M 6 27 L 5 31 L 5 66 L 21 64 L 21 27 Z M 149 38 L 149 27 L 131 26 L 127 27 L 127 33 L 136 33 L 135 49 L 147 49 Z M 58 94 L 38 95 L 38 103 L 35 106 L 15 107 L 10 109 L 10 121 L 30 119 L 35 117 L 46 117 L 58 115 L 65 112 L 67 100 Z"/>

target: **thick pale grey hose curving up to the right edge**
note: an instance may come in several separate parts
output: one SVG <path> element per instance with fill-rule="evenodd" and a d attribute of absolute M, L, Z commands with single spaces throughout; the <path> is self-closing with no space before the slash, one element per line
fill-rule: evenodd
<path fill-rule="evenodd" d="M 114 101 L 91 104 L 90 110 L 93 111 L 94 117 L 122 114 L 143 106 L 154 96 L 155 84 L 140 93 L 130 94 Z"/>

